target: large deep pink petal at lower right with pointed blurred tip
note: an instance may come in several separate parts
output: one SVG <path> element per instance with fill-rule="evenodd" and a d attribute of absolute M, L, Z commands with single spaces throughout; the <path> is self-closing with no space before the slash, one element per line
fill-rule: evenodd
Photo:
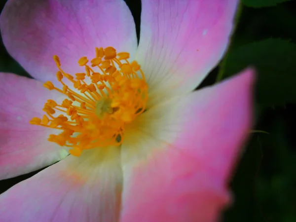
<path fill-rule="evenodd" d="M 254 71 L 171 99 L 139 117 L 122 146 L 121 222 L 215 222 L 252 124 Z M 135 134 L 134 134 L 135 135 Z M 137 153 L 137 158 L 133 158 Z"/>

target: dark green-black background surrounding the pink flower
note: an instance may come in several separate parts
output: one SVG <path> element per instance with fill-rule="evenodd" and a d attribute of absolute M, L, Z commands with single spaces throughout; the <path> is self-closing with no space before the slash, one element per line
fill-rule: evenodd
<path fill-rule="evenodd" d="M 139 36 L 141 2 L 126 2 Z M 243 0 L 225 59 L 199 86 L 213 84 L 247 65 L 259 71 L 254 130 L 264 132 L 252 133 L 229 183 L 235 202 L 225 211 L 223 221 L 296 222 L 296 1 L 271 7 L 246 6 L 254 6 L 252 2 L 268 4 L 268 0 Z M 1 0 L 0 10 L 4 4 Z M 0 72 L 30 77 L 2 43 Z M 0 181 L 0 193 L 37 172 Z"/>

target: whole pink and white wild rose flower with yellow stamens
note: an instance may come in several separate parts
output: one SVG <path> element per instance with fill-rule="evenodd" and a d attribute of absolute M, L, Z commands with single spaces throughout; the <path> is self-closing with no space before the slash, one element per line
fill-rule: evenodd
<path fill-rule="evenodd" d="M 0 222 L 217 221 L 230 201 L 227 180 L 251 127 L 254 72 L 245 70 L 193 90 L 225 52 L 237 1 L 142 0 L 137 46 L 134 21 L 123 0 L 8 0 L 0 16 L 3 42 L 36 80 L 0 74 L 0 179 L 61 161 L 1 194 Z M 95 101 L 104 113 L 98 125 L 73 128 L 77 138 L 80 130 L 90 130 L 83 131 L 86 137 L 86 132 L 101 130 L 110 146 L 89 146 L 98 142 L 89 135 L 79 139 L 80 145 L 87 142 L 83 146 L 70 148 L 79 157 L 67 156 L 69 147 L 57 143 L 63 145 L 69 135 L 52 143 L 48 136 L 59 130 L 29 124 L 45 114 L 47 99 L 61 104 L 66 98 L 42 86 L 46 81 L 62 86 L 52 57 L 58 55 L 63 71 L 75 76 L 85 72 L 77 64 L 79 58 L 91 60 L 95 47 L 109 46 L 129 52 L 129 61 L 141 65 L 146 81 L 141 75 L 134 77 L 139 82 L 126 77 L 122 83 L 114 77 L 118 87 L 130 91 L 116 95 L 119 102 Z M 133 63 L 133 72 L 136 66 Z M 115 87 L 112 84 L 103 87 L 105 93 Z M 96 90 L 99 96 L 94 98 L 101 101 L 104 93 Z M 143 96 L 137 97 L 139 92 Z M 133 110 L 139 103 L 141 114 Z M 75 109 L 87 116 L 95 113 Z M 73 117 L 68 112 L 68 118 Z M 108 121 L 116 121 L 108 124 L 105 117 L 113 114 Z M 45 118 L 40 124 L 50 123 Z M 122 136 L 118 146 L 108 138 L 115 134 Z"/>

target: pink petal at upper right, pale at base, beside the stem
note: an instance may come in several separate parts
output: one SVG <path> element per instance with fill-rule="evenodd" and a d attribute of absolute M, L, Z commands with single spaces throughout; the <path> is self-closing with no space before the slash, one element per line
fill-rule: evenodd
<path fill-rule="evenodd" d="M 146 75 L 151 105 L 193 90 L 218 64 L 237 2 L 142 0 L 136 60 Z"/>

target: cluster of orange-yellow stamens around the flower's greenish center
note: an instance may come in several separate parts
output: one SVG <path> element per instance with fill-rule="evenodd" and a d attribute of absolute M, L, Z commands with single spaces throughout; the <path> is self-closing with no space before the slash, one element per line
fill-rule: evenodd
<path fill-rule="evenodd" d="M 74 77 L 62 70 L 58 56 L 53 58 L 63 87 L 57 88 L 50 81 L 43 85 L 68 99 L 61 104 L 47 100 L 43 108 L 46 114 L 30 123 L 61 130 L 58 135 L 49 135 L 48 141 L 71 147 L 70 153 L 75 156 L 83 149 L 121 145 L 125 125 L 145 111 L 148 86 L 139 64 L 129 63 L 127 52 L 96 48 L 91 66 L 86 57 L 80 58 L 78 64 L 85 67 L 85 73 Z"/>

